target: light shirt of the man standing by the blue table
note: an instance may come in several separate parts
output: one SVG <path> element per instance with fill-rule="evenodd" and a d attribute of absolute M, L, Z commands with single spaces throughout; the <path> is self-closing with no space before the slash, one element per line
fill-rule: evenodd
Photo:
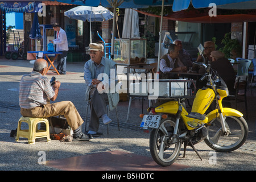
<path fill-rule="evenodd" d="M 53 40 L 53 44 L 56 44 L 56 52 L 68 51 L 67 34 L 62 28 L 60 28 L 59 35 L 57 33 L 57 39 Z"/>

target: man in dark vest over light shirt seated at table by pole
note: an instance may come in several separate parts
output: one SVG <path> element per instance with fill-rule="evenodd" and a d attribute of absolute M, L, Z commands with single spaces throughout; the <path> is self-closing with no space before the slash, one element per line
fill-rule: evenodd
<path fill-rule="evenodd" d="M 160 58 L 160 79 L 179 78 L 177 74 L 170 74 L 172 72 L 187 72 L 187 67 L 181 63 L 179 59 L 179 48 L 175 44 L 171 44 L 166 55 Z"/>

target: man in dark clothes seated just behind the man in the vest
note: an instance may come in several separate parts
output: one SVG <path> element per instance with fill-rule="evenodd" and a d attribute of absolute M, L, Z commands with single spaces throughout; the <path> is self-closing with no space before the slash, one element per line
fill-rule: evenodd
<path fill-rule="evenodd" d="M 174 41 L 174 44 L 179 48 L 179 59 L 187 67 L 187 69 L 193 67 L 191 55 L 182 47 L 182 42 L 179 39 Z"/>

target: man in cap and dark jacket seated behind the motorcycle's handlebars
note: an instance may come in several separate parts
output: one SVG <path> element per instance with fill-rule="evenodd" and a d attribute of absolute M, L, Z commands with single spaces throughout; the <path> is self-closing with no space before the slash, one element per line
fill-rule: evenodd
<path fill-rule="evenodd" d="M 225 58 L 224 53 L 221 51 L 212 51 L 210 53 L 212 57 L 212 64 L 210 67 L 217 71 L 218 75 L 225 81 L 228 86 L 229 94 L 234 94 L 234 82 L 236 81 L 236 73 L 232 67 L 232 64 Z"/>

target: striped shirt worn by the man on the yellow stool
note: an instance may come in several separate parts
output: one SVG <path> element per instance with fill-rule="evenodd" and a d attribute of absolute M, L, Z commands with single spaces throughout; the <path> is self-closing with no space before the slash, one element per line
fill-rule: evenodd
<path fill-rule="evenodd" d="M 23 75 L 19 83 L 19 106 L 31 109 L 47 104 L 47 98 L 55 95 L 47 77 L 32 71 Z"/>

